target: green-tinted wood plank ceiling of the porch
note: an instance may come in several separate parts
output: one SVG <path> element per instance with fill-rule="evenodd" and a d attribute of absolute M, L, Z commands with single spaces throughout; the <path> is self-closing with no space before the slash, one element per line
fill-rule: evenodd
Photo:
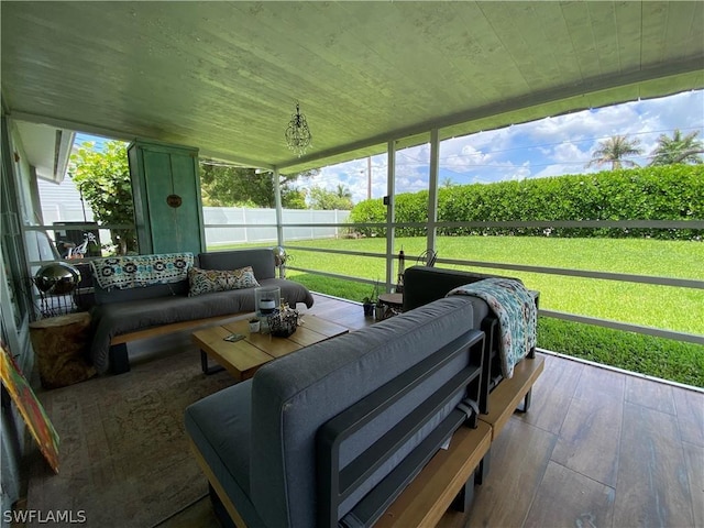
<path fill-rule="evenodd" d="M 6 113 L 284 172 L 704 87 L 704 2 L 3 1 L 0 15 Z M 301 158 L 284 143 L 297 101 Z"/>

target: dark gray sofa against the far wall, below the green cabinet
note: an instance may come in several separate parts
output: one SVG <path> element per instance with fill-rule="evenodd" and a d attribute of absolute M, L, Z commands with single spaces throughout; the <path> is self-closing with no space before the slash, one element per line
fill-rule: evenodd
<path fill-rule="evenodd" d="M 276 278 L 274 254 L 270 249 L 200 253 L 195 257 L 194 265 L 202 270 L 223 271 L 252 266 L 260 285 L 280 287 L 282 297 L 292 307 L 304 302 L 310 308 L 314 304 L 312 295 L 305 286 Z M 129 371 L 127 343 L 133 332 L 185 321 L 251 312 L 255 309 L 254 288 L 190 297 L 188 279 L 110 290 L 101 288 L 98 280 L 94 280 L 94 285 L 96 306 L 91 309 L 94 331 L 90 359 L 100 373 Z"/>

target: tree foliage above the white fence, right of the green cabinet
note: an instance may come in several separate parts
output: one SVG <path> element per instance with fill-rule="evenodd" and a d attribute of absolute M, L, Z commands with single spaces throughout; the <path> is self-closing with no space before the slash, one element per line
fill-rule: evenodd
<path fill-rule="evenodd" d="M 282 206 L 288 209 L 306 209 L 305 193 L 294 188 L 299 178 L 308 178 L 315 172 L 279 175 Z M 274 199 L 274 173 L 254 168 L 200 164 L 200 193 L 202 205 L 211 207 L 276 207 Z"/>

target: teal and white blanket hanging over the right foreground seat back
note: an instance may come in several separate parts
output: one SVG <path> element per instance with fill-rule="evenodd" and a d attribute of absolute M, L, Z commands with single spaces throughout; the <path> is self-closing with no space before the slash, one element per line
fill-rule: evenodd
<path fill-rule="evenodd" d="M 483 299 L 498 319 L 502 375 L 514 375 L 514 366 L 537 341 L 538 309 L 530 292 L 518 280 L 485 278 L 454 288 L 450 295 L 469 295 Z"/>

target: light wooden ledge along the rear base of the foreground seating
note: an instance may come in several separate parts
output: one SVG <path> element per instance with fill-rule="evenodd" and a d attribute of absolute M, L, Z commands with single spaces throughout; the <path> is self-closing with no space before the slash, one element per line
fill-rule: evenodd
<path fill-rule="evenodd" d="M 375 528 L 431 527 L 450 506 L 464 512 L 471 504 L 474 484 L 480 484 L 488 472 L 491 442 L 520 402 L 526 400 L 543 367 L 544 359 L 540 355 L 526 358 L 516 365 L 514 376 L 504 380 L 490 394 L 490 413 L 480 415 L 479 427 L 458 430 L 448 450 L 432 458 Z"/>

